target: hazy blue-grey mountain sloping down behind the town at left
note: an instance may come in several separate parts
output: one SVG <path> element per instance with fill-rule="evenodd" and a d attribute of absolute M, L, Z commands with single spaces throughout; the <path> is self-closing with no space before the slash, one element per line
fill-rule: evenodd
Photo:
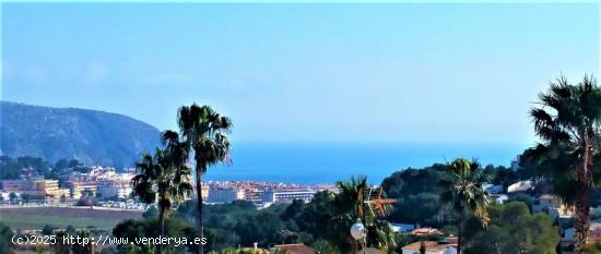
<path fill-rule="evenodd" d="M 160 145 L 160 131 L 118 113 L 0 101 L 0 152 L 50 162 L 130 167 Z"/>

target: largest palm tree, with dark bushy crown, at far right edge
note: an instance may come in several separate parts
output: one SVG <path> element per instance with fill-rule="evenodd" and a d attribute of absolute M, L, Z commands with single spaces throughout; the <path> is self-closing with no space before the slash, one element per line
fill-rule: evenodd
<path fill-rule="evenodd" d="M 582 253 L 589 228 L 589 193 L 601 174 L 601 89 L 591 77 L 578 85 L 565 77 L 551 83 L 530 112 L 541 143 L 525 153 L 553 193 L 576 209 L 575 245 Z"/>

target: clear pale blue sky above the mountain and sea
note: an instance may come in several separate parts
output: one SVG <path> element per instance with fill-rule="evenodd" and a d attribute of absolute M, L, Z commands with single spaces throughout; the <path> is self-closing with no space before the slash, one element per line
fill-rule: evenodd
<path fill-rule="evenodd" d="M 2 4 L 2 99 L 235 140 L 531 143 L 562 73 L 599 76 L 597 4 Z"/>

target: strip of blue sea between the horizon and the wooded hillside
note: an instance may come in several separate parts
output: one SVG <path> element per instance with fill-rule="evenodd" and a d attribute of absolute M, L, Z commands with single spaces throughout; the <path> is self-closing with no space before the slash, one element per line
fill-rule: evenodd
<path fill-rule="evenodd" d="M 334 183 L 364 174 L 373 184 L 392 172 L 453 158 L 509 166 L 528 145 L 434 143 L 240 142 L 232 164 L 209 169 L 205 181 L 258 180 L 287 183 Z"/>

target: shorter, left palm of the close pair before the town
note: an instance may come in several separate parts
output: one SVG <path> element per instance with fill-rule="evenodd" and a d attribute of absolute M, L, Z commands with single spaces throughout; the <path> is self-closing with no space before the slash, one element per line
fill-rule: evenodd
<path fill-rule="evenodd" d="M 165 131 L 162 136 L 164 150 L 157 148 L 154 156 L 142 155 L 142 161 L 135 165 L 140 172 L 132 179 L 134 194 L 146 204 L 153 204 L 158 196 L 158 222 L 161 235 L 165 235 L 165 216 L 174 203 L 182 202 L 193 190 L 190 181 L 191 170 L 185 165 L 188 156 L 186 146 L 179 142 L 176 132 Z M 157 252 L 163 251 L 158 244 Z"/>

